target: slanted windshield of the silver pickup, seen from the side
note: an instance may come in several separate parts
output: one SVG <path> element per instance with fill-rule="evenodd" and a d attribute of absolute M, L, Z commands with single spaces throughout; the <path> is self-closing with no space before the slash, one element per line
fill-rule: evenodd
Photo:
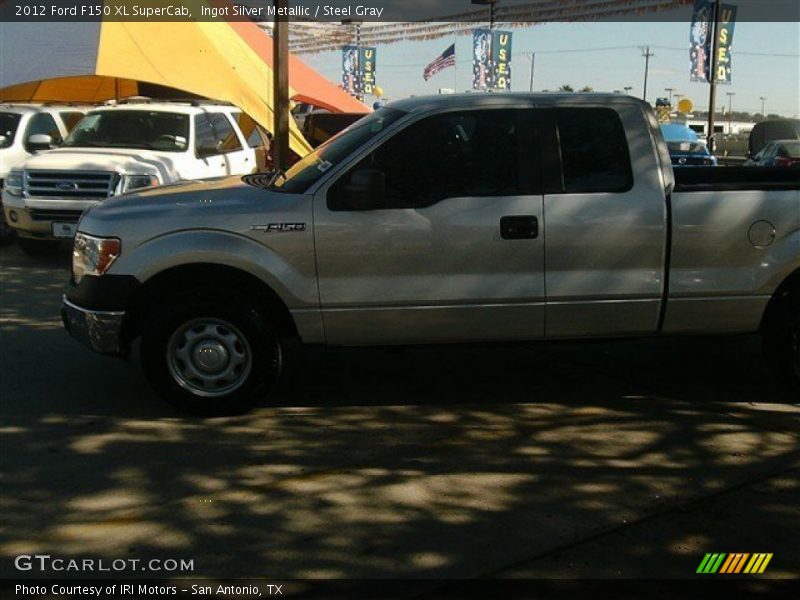
<path fill-rule="evenodd" d="M 338 165 L 356 149 L 380 135 L 406 113 L 392 108 L 381 108 L 359 119 L 327 142 L 300 159 L 286 172 L 286 177 L 275 183 L 284 192 L 302 194 L 329 169 Z"/>

